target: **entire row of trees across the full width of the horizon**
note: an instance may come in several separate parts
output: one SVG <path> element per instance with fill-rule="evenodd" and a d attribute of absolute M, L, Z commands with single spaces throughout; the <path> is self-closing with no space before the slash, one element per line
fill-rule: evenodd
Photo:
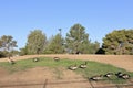
<path fill-rule="evenodd" d="M 114 54 L 133 55 L 133 30 L 119 30 L 109 33 L 103 37 L 100 47 L 99 42 L 92 43 L 85 28 L 81 24 L 71 26 L 66 36 L 60 33 L 50 38 L 41 30 L 31 31 L 24 47 L 19 52 L 14 51 L 17 41 L 12 36 L 3 35 L 0 37 L 0 57 L 31 54 Z"/>

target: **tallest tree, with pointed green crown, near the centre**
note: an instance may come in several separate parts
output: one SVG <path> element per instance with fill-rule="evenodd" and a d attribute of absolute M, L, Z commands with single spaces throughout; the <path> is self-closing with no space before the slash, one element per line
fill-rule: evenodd
<path fill-rule="evenodd" d="M 74 24 L 66 33 L 66 48 L 69 53 L 89 53 L 89 34 L 81 24 Z"/>

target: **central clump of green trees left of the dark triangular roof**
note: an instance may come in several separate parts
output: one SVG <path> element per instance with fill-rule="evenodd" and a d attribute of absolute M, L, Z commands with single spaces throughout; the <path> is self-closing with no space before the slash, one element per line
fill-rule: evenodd
<path fill-rule="evenodd" d="M 31 31 L 28 35 L 25 47 L 21 48 L 21 55 L 29 54 L 95 54 L 100 43 L 91 43 L 85 28 L 74 24 L 66 36 L 60 33 L 50 38 L 41 30 Z"/>

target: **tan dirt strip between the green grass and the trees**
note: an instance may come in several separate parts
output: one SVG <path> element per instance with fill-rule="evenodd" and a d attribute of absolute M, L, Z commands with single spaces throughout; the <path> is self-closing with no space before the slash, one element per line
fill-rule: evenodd
<path fill-rule="evenodd" d="M 105 64 L 111 64 L 116 67 L 124 68 L 129 72 L 133 72 L 133 55 L 27 55 L 12 57 L 12 59 L 27 59 L 31 57 L 60 57 L 60 58 L 71 58 L 71 59 L 83 59 L 83 61 L 94 61 Z M 0 59 L 0 62 L 7 62 L 8 58 Z"/>

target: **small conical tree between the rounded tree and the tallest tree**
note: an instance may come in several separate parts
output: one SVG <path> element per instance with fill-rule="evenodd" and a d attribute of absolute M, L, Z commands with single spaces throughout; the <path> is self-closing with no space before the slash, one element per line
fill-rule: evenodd
<path fill-rule="evenodd" d="M 63 48 L 63 38 L 61 37 L 60 34 L 57 34 L 55 36 L 50 40 L 49 45 L 44 53 L 48 54 L 62 54 L 64 53 Z"/>

